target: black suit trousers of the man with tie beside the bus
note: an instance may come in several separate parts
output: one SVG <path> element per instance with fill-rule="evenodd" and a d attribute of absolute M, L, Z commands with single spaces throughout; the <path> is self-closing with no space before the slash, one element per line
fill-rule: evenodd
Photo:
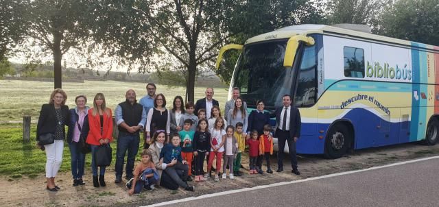
<path fill-rule="evenodd" d="M 285 142 L 288 143 L 289 158 L 291 159 L 291 167 L 297 169 L 296 143 L 294 138 L 289 136 L 289 131 L 276 129 L 278 152 L 277 165 L 283 167 L 283 150 L 285 149 Z"/>

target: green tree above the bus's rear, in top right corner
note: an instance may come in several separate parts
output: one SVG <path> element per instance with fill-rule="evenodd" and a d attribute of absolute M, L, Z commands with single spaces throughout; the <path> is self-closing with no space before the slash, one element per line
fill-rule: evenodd
<path fill-rule="evenodd" d="M 439 45 L 439 1 L 399 0 L 385 10 L 378 34 Z"/>

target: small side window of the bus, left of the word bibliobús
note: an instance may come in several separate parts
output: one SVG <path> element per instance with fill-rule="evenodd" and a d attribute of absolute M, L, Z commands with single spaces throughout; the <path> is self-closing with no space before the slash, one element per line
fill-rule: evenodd
<path fill-rule="evenodd" d="M 364 77 L 364 50 L 344 47 L 344 77 Z"/>

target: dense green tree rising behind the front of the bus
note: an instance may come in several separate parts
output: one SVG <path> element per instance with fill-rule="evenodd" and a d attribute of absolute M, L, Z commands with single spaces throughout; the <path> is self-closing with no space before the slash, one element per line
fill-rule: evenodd
<path fill-rule="evenodd" d="M 252 0 L 243 1 L 228 12 L 230 27 L 228 33 L 235 34 L 226 43 L 243 45 L 252 36 L 272 32 L 281 27 L 306 23 L 322 23 L 323 3 L 309 0 Z M 230 84 L 239 51 L 228 51 L 215 73 L 226 84 Z"/>

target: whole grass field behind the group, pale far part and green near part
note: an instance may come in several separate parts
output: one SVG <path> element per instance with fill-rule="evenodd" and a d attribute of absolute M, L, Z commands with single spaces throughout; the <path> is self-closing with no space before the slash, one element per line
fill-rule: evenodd
<path fill-rule="evenodd" d="M 125 100 L 125 92 L 133 88 L 137 92 L 137 99 L 145 95 L 145 84 L 129 82 L 84 82 L 64 83 L 62 87 L 67 93 L 67 105 L 74 107 L 77 95 L 88 97 L 88 106 L 96 93 L 104 93 L 107 106 L 115 109 L 118 103 Z M 24 82 L 0 80 L 0 175 L 7 175 L 9 179 L 22 177 L 34 178 L 45 171 L 46 156 L 44 151 L 36 147 L 36 120 L 40 107 L 49 101 L 53 90 L 50 82 Z M 195 100 L 204 97 L 205 88 L 195 88 Z M 167 98 L 167 107 L 171 107 L 176 95 L 185 95 L 184 87 L 167 87 L 157 85 L 156 93 L 163 93 Z M 225 88 L 215 88 L 214 98 L 224 110 L 228 91 Z M 22 124 L 23 115 L 32 116 L 31 143 L 23 144 Z M 143 147 L 143 146 L 141 146 Z M 113 162 L 115 165 L 116 145 L 112 145 Z M 63 162 L 60 171 L 70 170 L 70 152 L 67 143 L 64 145 Z M 86 156 L 86 166 L 91 165 L 91 156 Z"/>

